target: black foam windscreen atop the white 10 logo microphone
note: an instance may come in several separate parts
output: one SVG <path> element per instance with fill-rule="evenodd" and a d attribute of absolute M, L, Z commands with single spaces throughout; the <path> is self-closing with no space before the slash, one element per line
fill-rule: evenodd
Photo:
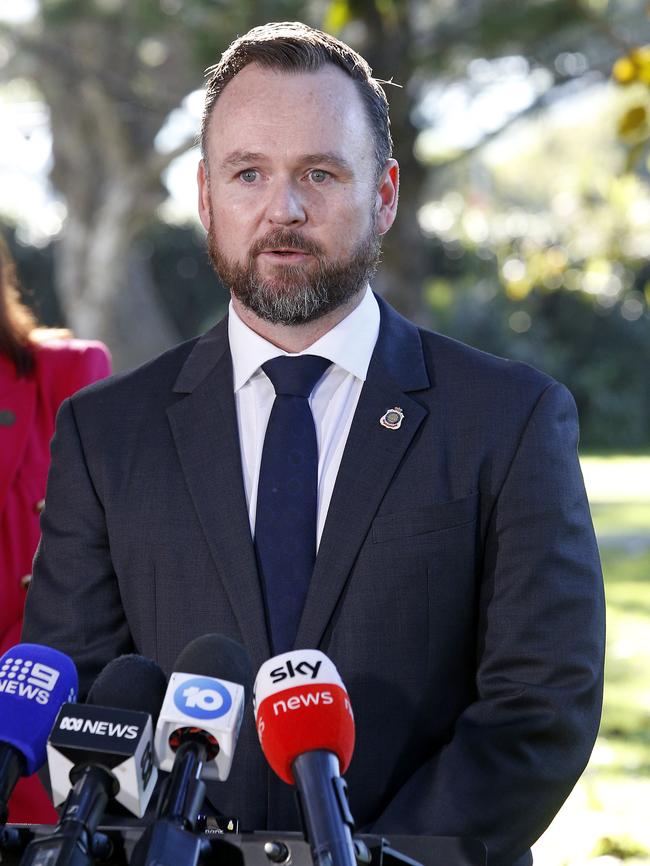
<path fill-rule="evenodd" d="M 176 659 L 174 670 L 239 683 L 246 700 L 253 686 L 248 653 L 240 643 L 222 634 L 204 634 L 190 641 Z"/>

